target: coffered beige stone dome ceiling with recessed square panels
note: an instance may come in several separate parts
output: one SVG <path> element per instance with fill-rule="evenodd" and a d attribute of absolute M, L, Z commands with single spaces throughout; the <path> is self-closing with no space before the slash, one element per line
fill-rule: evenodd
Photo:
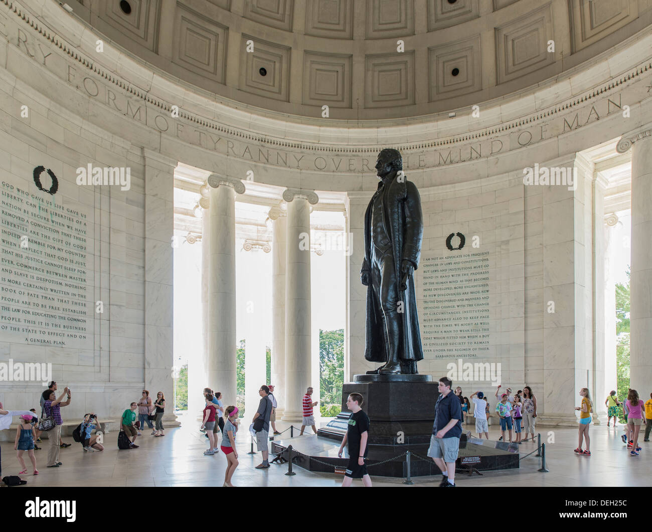
<path fill-rule="evenodd" d="M 480 105 L 576 68 L 651 22 L 648 0 L 68 4 L 222 102 L 313 119 L 323 106 L 331 119 L 365 120 Z"/>

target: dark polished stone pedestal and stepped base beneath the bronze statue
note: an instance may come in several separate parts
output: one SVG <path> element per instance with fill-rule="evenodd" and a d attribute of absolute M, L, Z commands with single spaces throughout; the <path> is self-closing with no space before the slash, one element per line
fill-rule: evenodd
<path fill-rule="evenodd" d="M 371 422 L 367 458 L 369 474 L 372 477 L 405 478 L 408 471 L 404 453 L 410 451 L 413 453 L 411 476 L 440 475 L 441 471 L 431 458 L 419 460 L 415 456 L 427 458 L 435 403 L 439 396 L 437 382 L 421 374 L 356 375 L 354 379 L 355 382 L 345 383 L 342 387 L 342 412 L 327 426 L 319 428 L 318 436 L 273 441 L 272 452 L 283 453 L 292 445 L 297 466 L 324 473 L 333 473 L 333 467 L 324 464 L 346 469 L 348 454 L 345 451 L 343 458 L 338 458 L 337 451 L 351 415 L 346 409 L 346 400 L 351 392 L 358 392 L 364 397 L 363 410 Z M 487 440 L 480 444 L 475 438 L 469 438 L 470 429 L 470 425 L 463 426 L 458 474 L 466 472 L 469 466 L 480 471 L 518 467 L 518 445 Z M 391 460 L 399 455 L 403 456 Z"/>

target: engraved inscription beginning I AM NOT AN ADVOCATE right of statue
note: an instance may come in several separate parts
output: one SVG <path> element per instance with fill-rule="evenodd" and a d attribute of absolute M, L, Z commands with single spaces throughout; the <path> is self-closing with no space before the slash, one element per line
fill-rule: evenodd
<path fill-rule="evenodd" d="M 490 263 L 489 252 L 422 256 L 424 355 L 433 359 L 494 355 L 489 340 Z"/>

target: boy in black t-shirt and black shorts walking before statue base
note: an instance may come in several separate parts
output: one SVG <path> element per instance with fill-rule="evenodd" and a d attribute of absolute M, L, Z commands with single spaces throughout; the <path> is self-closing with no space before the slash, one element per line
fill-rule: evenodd
<path fill-rule="evenodd" d="M 338 456 L 342 458 L 342 451 L 344 445 L 348 440 L 349 442 L 349 464 L 346 466 L 346 473 L 344 473 L 344 480 L 342 481 L 342 488 L 351 486 L 353 479 L 363 479 L 363 485 L 370 488 L 371 479 L 364 464 L 368 452 L 367 440 L 369 437 L 369 417 L 362 410 L 363 396 L 359 393 L 352 393 L 346 400 L 346 407 L 352 412 L 349 417 L 349 426 L 342 445 L 340 445 L 340 452 Z"/>

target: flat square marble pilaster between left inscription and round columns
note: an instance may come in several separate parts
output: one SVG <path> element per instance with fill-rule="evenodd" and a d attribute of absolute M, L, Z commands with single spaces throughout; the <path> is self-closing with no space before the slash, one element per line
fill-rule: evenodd
<path fill-rule="evenodd" d="M 167 398 L 165 426 L 174 414 L 173 234 L 177 161 L 143 149 L 145 160 L 145 378 L 144 389 Z"/>

